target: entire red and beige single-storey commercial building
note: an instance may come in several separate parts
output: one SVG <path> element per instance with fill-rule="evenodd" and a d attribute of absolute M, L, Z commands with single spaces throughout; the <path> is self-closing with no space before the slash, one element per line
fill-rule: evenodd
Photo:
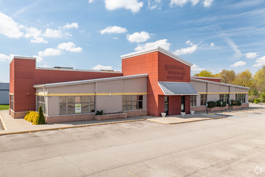
<path fill-rule="evenodd" d="M 114 72 L 40 68 L 36 58 L 14 57 L 11 115 L 22 118 L 42 105 L 47 123 L 55 123 L 92 120 L 97 110 L 127 116 L 178 115 L 206 110 L 207 101 L 248 100 L 249 88 L 190 76 L 191 63 L 160 47 L 121 58 L 122 72 Z"/>

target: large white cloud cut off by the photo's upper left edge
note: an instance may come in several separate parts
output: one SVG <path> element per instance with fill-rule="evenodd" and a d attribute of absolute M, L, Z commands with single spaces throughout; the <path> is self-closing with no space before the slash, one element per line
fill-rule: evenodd
<path fill-rule="evenodd" d="M 0 34 L 3 34 L 9 38 L 19 38 L 23 35 L 20 29 L 23 25 L 19 25 L 12 18 L 0 12 Z"/>

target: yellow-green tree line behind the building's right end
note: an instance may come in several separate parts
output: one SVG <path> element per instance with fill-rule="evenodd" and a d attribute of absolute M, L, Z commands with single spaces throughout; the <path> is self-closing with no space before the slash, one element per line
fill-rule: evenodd
<path fill-rule="evenodd" d="M 263 65 L 252 76 L 249 69 L 235 73 L 234 70 L 222 70 L 220 73 L 213 74 L 211 71 L 202 70 L 200 73 L 195 73 L 194 76 L 199 77 L 218 77 L 221 78 L 221 83 L 239 85 L 249 87 L 248 100 L 249 102 L 265 102 L 265 65 Z"/>

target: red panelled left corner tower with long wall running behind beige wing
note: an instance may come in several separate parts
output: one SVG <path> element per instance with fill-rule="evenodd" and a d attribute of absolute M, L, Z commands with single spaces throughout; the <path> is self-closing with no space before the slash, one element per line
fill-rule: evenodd
<path fill-rule="evenodd" d="M 36 69 L 36 60 L 14 58 L 10 64 L 10 93 L 14 93 L 14 111 L 36 110 L 33 85 L 118 76 L 122 73 Z"/>

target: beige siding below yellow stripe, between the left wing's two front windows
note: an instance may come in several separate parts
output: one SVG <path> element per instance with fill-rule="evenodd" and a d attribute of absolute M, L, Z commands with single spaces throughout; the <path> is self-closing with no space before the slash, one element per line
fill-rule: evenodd
<path fill-rule="evenodd" d="M 95 111 L 104 110 L 107 113 L 122 111 L 122 95 L 97 95 L 95 99 Z"/>

